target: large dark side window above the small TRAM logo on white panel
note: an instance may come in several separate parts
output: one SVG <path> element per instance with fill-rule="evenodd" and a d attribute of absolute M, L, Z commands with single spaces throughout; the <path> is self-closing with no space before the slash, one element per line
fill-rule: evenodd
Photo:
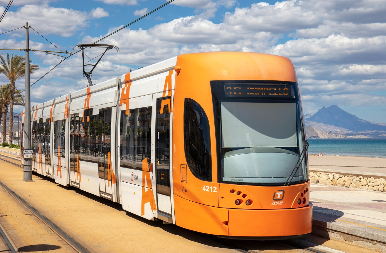
<path fill-rule="evenodd" d="M 121 112 L 120 166 L 142 170 L 151 162 L 151 106 Z"/>

